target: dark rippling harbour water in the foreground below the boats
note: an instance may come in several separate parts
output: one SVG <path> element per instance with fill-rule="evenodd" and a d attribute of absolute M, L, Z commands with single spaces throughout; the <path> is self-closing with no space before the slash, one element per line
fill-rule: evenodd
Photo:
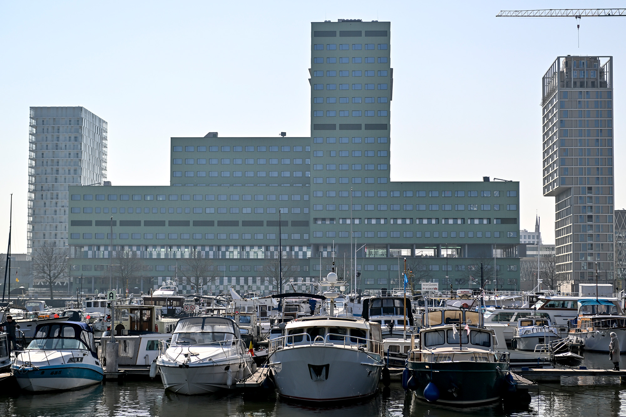
<path fill-rule="evenodd" d="M 588 368 L 611 368 L 607 354 L 585 354 Z M 622 364 L 626 367 L 626 363 Z M 569 378 L 574 379 L 574 378 Z M 161 383 L 108 383 L 54 394 L 0 394 L 0 415 L 61 416 L 550 416 L 626 417 L 626 386 L 618 378 L 575 378 L 563 385 L 545 384 L 530 391 L 531 403 L 516 409 L 502 404 L 456 409 L 428 404 L 405 395 L 398 383 L 374 398 L 343 406 L 306 406 L 282 401 L 275 393 L 225 393 L 213 396 L 178 396 L 165 393 Z"/>

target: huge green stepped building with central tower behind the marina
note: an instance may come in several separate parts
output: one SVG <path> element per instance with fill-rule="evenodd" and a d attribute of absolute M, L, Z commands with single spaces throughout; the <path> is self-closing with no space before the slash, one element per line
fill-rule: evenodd
<path fill-rule="evenodd" d="M 346 287 L 401 287 L 406 257 L 417 289 L 476 287 L 482 263 L 489 289 L 517 290 L 518 182 L 391 182 L 390 36 L 389 22 L 312 23 L 310 137 L 172 138 L 170 185 L 70 187 L 74 286 L 146 292 L 177 275 L 186 292 L 268 294 L 282 254 L 285 285 L 306 291 L 334 252 Z"/>

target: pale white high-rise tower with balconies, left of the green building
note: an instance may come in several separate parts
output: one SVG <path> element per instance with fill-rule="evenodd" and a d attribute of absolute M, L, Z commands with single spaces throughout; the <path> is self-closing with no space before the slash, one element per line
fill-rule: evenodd
<path fill-rule="evenodd" d="M 31 107 L 28 254 L 68 243 L 69 185 L 106 178 L 106 121 L 84 107 Z"/>

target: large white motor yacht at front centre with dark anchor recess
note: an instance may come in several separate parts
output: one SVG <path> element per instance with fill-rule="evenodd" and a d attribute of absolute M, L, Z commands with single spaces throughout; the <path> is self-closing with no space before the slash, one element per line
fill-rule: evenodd
<path fill-rule="evenodd" d="M 304 317 L 285 324 L 285 336 L 269 341 L 269 367 L 284 398 L 365 398 L 378 389 L 382 351 L 378 323 L 356 317 Z"/>

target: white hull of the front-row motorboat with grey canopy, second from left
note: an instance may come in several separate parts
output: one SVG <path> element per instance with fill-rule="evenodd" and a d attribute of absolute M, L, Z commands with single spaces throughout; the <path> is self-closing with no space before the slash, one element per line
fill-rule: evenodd
<path fill-rule="evenodd" d="M 208 366 L 190 366 L 178 368 L 178 366 L 160 365 L 159 371 L 163 386 L 169 391 L 184 395 L 210 394 L 220 389 L 235 388 L 238 379 L 250 374 L 250 364 L 235 363 L 228 371 L 224 369 L 227 363 Z"/>

